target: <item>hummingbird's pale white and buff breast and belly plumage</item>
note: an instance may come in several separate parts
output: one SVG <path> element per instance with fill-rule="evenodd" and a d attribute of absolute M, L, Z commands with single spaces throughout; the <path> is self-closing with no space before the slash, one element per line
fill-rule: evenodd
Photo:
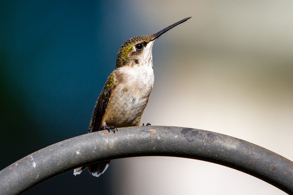
<path fill-rule="evenodd" d="M 122 67 L 115 71 L 112 90 L 103 122 L 108 126 L 140 125 L 144 108 L 154 85 L 152 65 Z"/>

